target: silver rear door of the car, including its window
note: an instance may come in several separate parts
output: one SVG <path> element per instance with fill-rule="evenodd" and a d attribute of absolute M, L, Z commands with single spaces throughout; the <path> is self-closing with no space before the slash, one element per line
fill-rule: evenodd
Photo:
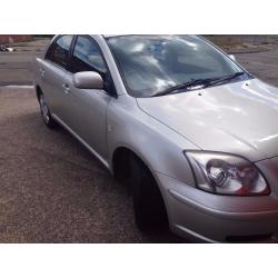
<path fill-rule="evenodd" d="M 64 77 L 73 36 L 59 36 L 50 46 L 40 66 L 41 89 L 52 115 L 64 119 Z"/>

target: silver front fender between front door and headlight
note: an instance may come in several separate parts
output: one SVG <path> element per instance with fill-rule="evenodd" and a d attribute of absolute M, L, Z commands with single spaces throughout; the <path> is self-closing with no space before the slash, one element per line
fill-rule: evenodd
<path fill-rule="evenodd" d="M 193 185 L 193 176 L 183 150 L 198 149 L 185 137 L 143 112 L 130 96 L 119 96 L 107 110 L 108 162 L 112 172 L 115 151 L 125 147 L 135 152 L 149 168 Z"/>

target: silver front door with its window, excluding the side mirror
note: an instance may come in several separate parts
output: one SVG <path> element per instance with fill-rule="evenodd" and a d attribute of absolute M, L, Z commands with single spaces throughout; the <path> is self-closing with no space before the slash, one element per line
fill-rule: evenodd
<path fill-rule="evenodd" d="M 70 128 L 102 159 L 107 158 L 106 112 L 112 98 L 108 91 L 113 87 L 110 73 L 98 43 L 89 36 L 78 36 L 66 73 L 69 93 L 67 122 Z M 105 80 L 105 90 L 77 89 L 72 77 L 76 72 L 97 71 Z"/>

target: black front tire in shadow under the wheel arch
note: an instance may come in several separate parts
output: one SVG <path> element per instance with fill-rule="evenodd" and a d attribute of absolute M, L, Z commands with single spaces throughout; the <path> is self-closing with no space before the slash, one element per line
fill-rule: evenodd
<path fill-rule="evenodd" d="M 138 228 L 143 232 L 166 230 L 168 218 L 161 192 L 148 168 L 131 158 L 133 209 Z"/>

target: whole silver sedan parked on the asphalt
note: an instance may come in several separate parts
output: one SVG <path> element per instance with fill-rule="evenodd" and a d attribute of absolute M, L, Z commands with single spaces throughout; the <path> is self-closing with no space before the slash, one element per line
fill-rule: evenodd
<path fill-rule="evenodd" d="M 198 36 L 57 36 L 34 73 L 44 123 L 132 186 L 141 230 L 277 241 L 278 89 Z"/>

